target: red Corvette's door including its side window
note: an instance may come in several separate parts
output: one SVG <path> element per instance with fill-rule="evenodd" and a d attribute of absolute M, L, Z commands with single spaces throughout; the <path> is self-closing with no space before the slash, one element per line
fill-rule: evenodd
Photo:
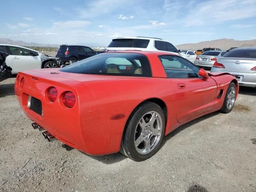
<path fill-rule="evenodd" d="M 199 68 L 179 56 L 159 57 L 176 95 L 178 122 L 187 122 L 211 110 L 217 94 L 216 82 L 199 76 Z"/>

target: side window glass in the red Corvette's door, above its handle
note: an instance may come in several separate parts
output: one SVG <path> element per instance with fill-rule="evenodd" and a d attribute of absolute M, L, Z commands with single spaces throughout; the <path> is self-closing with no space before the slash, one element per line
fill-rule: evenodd
<path fill-rule="evenodd" d="M 201 78 L 199 68 L 178 56 L 159 56 L 167 78 Z"/>

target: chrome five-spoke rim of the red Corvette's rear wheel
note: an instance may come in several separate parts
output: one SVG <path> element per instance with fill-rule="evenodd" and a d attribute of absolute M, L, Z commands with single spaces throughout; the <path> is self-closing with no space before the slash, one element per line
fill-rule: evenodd
<path fill-rule="evenodd" d="M 139 120 L 134 133 L 134 145 L 138 153 L 148 154 L 158 144 L 162 134 L 162 119 L 158 112 L 146 112 Z"/>

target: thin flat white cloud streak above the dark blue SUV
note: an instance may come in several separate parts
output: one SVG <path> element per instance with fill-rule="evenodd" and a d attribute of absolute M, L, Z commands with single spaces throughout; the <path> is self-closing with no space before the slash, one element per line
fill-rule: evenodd
<path fill-rule="evenodd" d="M 90 21 L 58 21 L 58 22 L 53 22 L 52 27 L 53 28 L 84 28 L 87 25 L 90 25 Z"/>

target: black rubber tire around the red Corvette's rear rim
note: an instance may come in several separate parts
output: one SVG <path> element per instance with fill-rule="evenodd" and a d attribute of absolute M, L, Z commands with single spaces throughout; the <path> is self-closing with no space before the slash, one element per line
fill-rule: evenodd
<path fill-rule="evenodd" d="M 161 133 L 161 134 L 158 137 L 159 138 L 158 143 L 156 143 L 154 145 L 154 148 L 152 147 L 152 151 L 148 152 L 148 154 L 141 154 L 137 151 L 135 143 L 134 143 L 135 137 L 136 137 L 135 132 L 136 132 L 136 130 L 138 130 L 138 126 L 139 126 L 138 123 L 141 120 L 141 118 L 147 112 L 151 112 L 151 111 L 155 111 L 160 115 L 158 120 L 160 121 L 160 118 L 162 120 L 161 121 L 162 128 L 161 128 L 161 130 L 159 130 L 159 133 Z M 162 111 L 162 108 L 160 108 L 160 106 L 158 106 L 157 104 L 155 104 L 153 102 L 144 102 L 132 112 L 132 114 L 130 115 L 130 117 L 126 123 L 126 127 L 124 129 L 124 134 L 123 134 L 123 138 L 122 138 L 120 152 L 122 154 L 124 154 L 125 156 L 127 156 L 128 158 L 131 158 L 132 160 L 144 161 L 144 160 L 152 157 L 158 151 L 159 146 L 164 137 L 164 130 L 165 130 L 165 118 L 164 118 L 164 112 Z M 144 131 L 144 129 L 143 129 L 143 131 Z M 151 142 L 151 138 L 154 140 L 154 137 L 157 137 L 157 136 L 151 135 L 149 138 L 149 140 L 150 140 L 149 142 Z M 143 144 L 146 144 L 144 141 L 142 141 L 142 142 L 143 142 Z M 145 146 L 145 148 L 146 148 L 146 146 Z"/>

